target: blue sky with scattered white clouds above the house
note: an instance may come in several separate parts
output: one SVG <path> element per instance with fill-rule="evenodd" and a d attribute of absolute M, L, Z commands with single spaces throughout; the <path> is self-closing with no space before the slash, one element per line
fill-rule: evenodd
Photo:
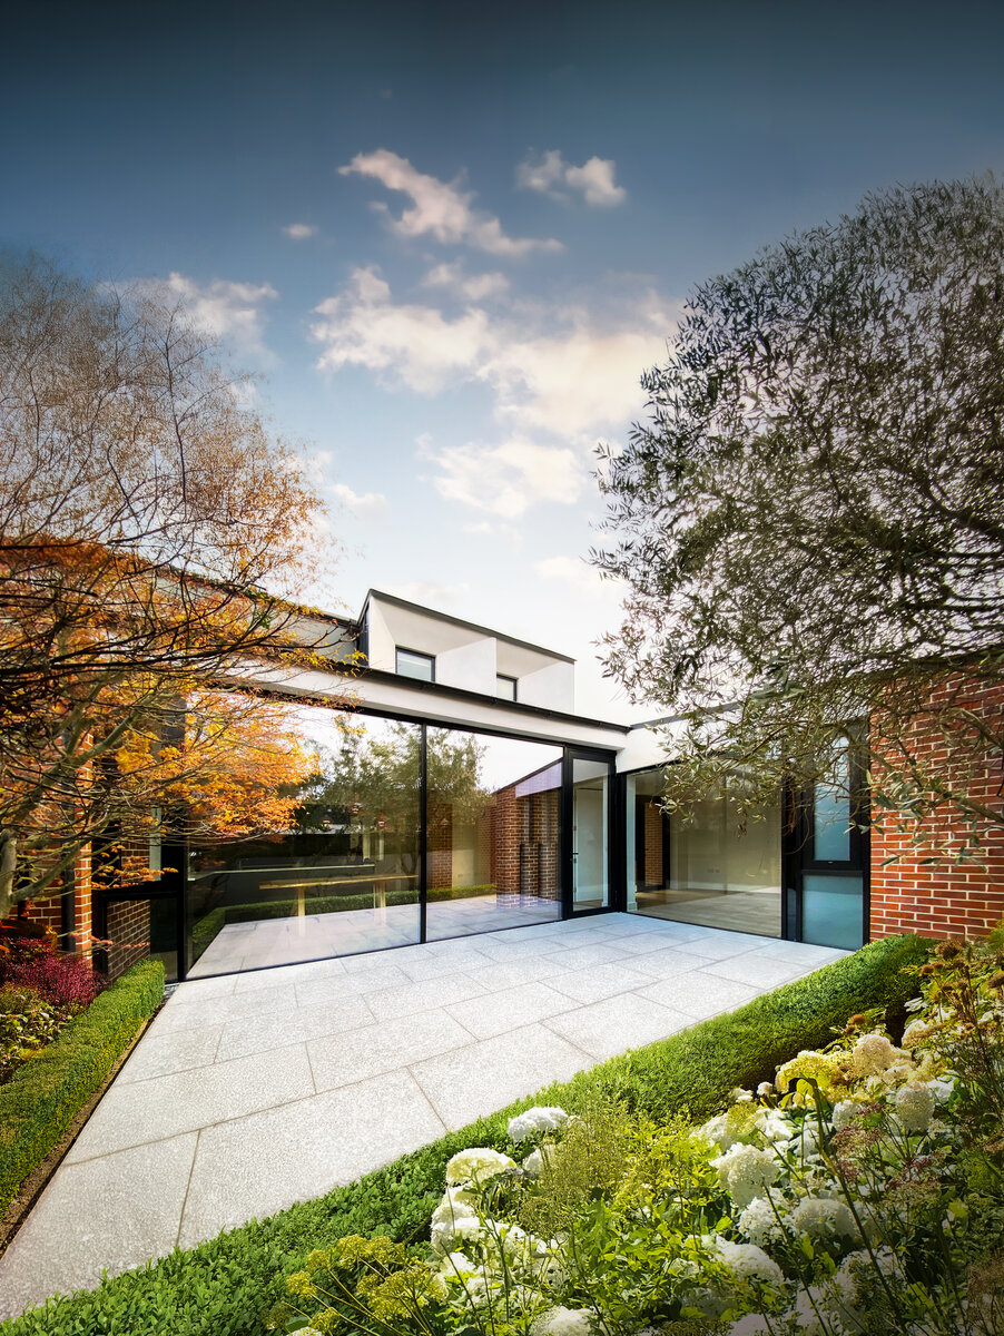
<path fill-rule="evenodd" d="M 597 444 L 688 293 L 895 183 L 1004 168 L 1004 5 L 64 5 L 5 21 L 0 243 L 158 282 L 260 377 L 319 561 L 579 660 Z M 334 609 L 338 611 L 338 609 Z"/>

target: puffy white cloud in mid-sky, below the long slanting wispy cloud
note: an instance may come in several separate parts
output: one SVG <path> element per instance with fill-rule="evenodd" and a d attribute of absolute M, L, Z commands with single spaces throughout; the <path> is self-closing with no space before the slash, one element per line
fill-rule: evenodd
<path fill-rule="evenodd" d="M 348 290 L 315 307 L 311 326 L 324 345 L 318 366 L 335 371 L 364 366 L 383 379 L 435 394 L 451 377 L 469 378 L 486 354 L 489 319 L 467 310 L 455 321 L 431 306 L 394 306 L 375 269 L 352 271 Z"/>

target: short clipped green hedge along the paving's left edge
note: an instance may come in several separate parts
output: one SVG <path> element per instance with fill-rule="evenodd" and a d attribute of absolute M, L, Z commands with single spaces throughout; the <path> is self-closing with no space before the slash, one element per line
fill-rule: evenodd
<path fill-rule="evenodd" d="M 0 1210 L 56 1145 L 164 995 L 164 966 L 140 961 L 99 993 L 55 1043 L 0 1086 Z"/>

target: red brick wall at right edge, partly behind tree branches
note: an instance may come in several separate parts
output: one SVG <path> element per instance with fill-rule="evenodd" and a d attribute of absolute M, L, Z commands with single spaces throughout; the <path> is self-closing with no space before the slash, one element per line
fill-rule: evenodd
<path fill-rule="evenodd" d="M 972 681 L 961 673 L 945 676 L 931 695 L 933 705 L 952 704 L 1000 727 L 1004 684 Z M 949 748 L 944 727 L 932 712 L 920 712 L 907 736 L 907 747 L 927 763 L 947 763 Z M 876 740 L 876 749 L 896 766 L 895 748 Z M 881 780 L 881 775 L 878 776 Z M 1003 775 L 1000 752 L 977 751 L 976 763 L 956 767 L 953 779 L 968 795 L 993 811 L 1001 811 Z M 983 850 L 976 859 L 957 860 L 969 827 L 957 808 L 939 808 L 921 826 L 923 840 L 915 844 L 913 830 L 880 810 L 872 811 L 872 914 L 870 935 L 921 933 L 927 937 L 983 937 L 1004 916 L 1004 830 L 984 824 Z M 893 859 L 893 862 L 888 862 Z M 932 862 L 933 859 L 933 862 Z"/>

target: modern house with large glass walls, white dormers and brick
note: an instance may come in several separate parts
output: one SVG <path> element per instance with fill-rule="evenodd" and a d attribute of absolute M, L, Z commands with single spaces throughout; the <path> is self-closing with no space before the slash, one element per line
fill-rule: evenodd
<path fill-rule="evenodd" d="M 565 655 L 378 591 L 354 621 L 304 620 L 332 671 L 254 676 L 327 751 L 326 784 L 295 830 L 154 848 L 174 871 L 93 903 L 81 866 L 63 903 L 35 906 L 63 930 L 89 915 L 117 943 L 109 973 L 146 950 L 183 979 L 611 910 L 845 949 L 943 921 L 985 931 L 1004 912 L 995 850 L 941 919 L 935 874 L 885 859 L 873 906 L 854 784 L 778 794 L 744 832 L 725 795 L 668 815 L 666 731 L 577 713 Z M 300 707 L 339 693 L 352 657 L 366 667 L 343 732 Z"/>

